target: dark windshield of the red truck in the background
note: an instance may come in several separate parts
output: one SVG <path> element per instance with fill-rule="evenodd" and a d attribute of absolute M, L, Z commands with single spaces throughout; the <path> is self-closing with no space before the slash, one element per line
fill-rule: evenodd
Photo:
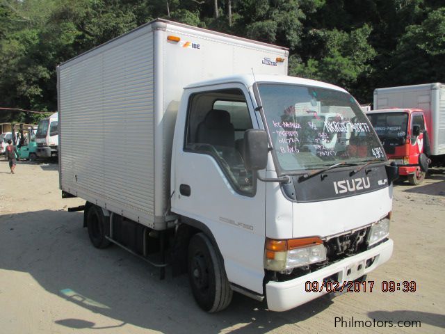
<path fill-rule="evenodd" d="M 404 145 L 407 133 L 407 113 L 370 113 L 369 120 L 385 145 Z"/>

